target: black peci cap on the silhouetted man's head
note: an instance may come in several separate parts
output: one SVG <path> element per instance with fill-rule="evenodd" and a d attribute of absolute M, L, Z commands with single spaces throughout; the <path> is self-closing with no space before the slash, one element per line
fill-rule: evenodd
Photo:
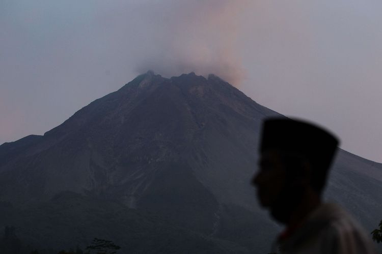
<path fill-rule="evenodd" d="M 305 156 L 315 169 L 330 167 L 339 140 L 330 132 L 306 121 L 284 117 L 263 123 L 260 151 L 276 149 Z"/>

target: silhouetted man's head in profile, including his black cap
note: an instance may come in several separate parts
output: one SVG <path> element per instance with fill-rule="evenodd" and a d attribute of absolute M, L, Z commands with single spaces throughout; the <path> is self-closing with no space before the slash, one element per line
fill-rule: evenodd
<path fill-rule="evenodd" d="M 253 179 L 260 204 L 285 223 L 306 193 L 320 197 L 337 145 L 337 138 L 313 124 L 265 120 L 259 171 Z"/>

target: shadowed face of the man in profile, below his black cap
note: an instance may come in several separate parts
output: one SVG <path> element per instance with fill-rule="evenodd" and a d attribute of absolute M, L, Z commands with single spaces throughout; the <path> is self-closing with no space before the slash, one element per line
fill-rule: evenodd
<path fill-rule="evenodd" d="M 258 200 L 263 207 L 272 207 L 278 202 L 286 181 L 286 170 L 277 151 L 261 153 L 258 172 L 252 179 L 257 189 Z"/>

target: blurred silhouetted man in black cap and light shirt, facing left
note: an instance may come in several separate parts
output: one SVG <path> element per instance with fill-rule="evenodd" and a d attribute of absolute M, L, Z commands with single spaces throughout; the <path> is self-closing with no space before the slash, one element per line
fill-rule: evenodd
<path fill-rule="evenodd" d="M 279 236 L 281 253 L 376 253 L 363 229 L 321 194 L 338 140 L 304 121 L 264 121 L 259 171 L 253 178 L 261 206 L 286 226 Z"/>

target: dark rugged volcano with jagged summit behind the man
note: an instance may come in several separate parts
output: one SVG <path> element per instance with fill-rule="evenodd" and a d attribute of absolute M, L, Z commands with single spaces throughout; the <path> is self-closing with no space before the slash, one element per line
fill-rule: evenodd
<path fill-rule="evenodd" d="M 118 253 L 267 253 L 279 227 L 250 180 L 261 122 L 276 115 L 217 76 L 149 71 L 0 146 L 0 227 L 52 249 L 98 237 Z M 382 165 L 340 150 L 326 198 L 370 231 L 380 193 Z"/>

